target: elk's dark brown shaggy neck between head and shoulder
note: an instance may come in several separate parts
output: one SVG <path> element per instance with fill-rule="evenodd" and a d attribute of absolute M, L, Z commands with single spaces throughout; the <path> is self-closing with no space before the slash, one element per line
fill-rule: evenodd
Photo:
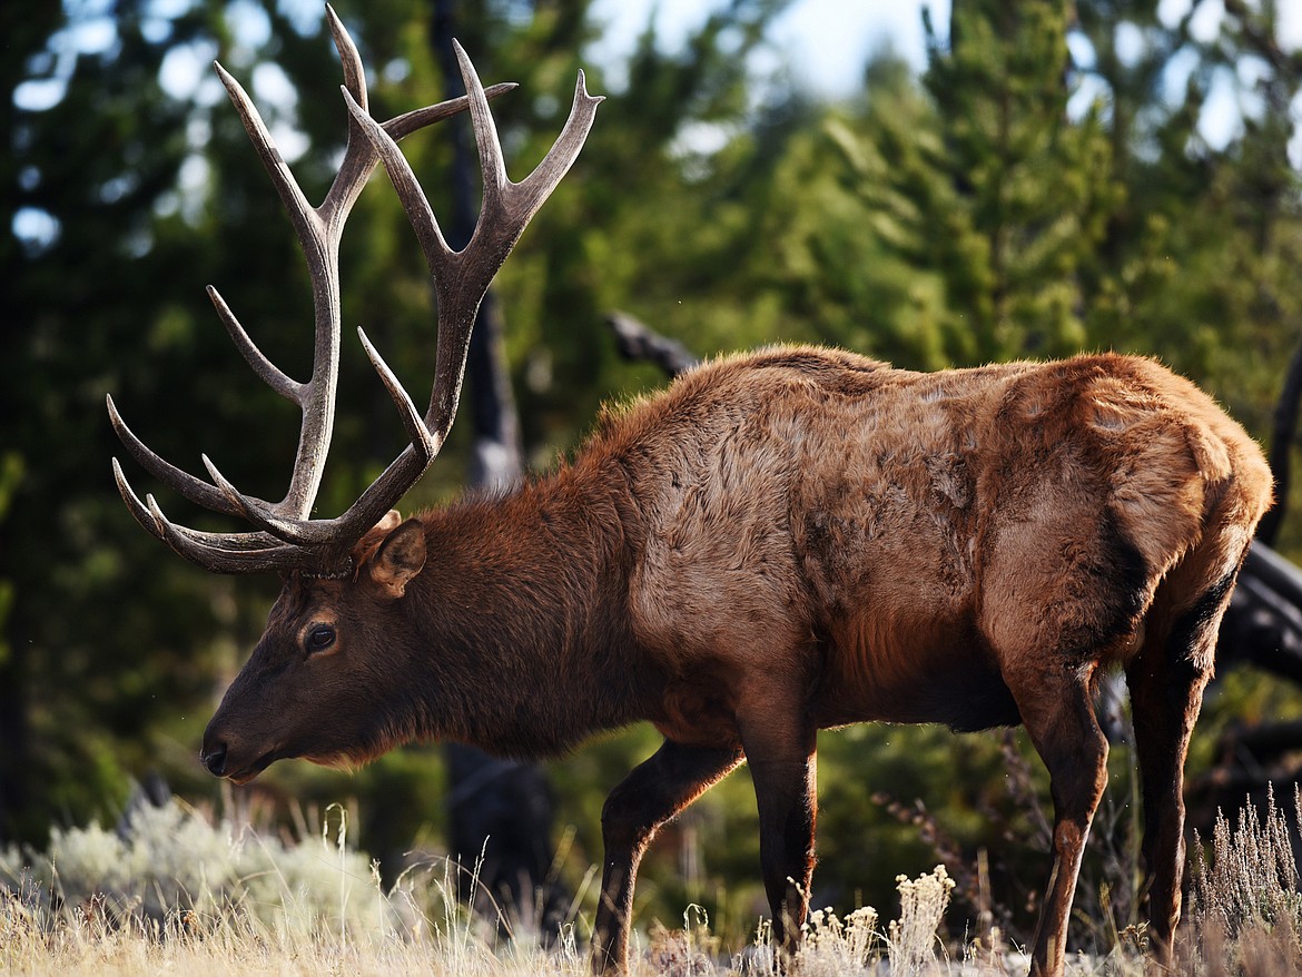
<path fill-rule="evenodd" d="M 564 468 L 421 513 L 428 559 L 404 598 L 418 736 L 555 756 L 647 715 L 620 487 Z"/>

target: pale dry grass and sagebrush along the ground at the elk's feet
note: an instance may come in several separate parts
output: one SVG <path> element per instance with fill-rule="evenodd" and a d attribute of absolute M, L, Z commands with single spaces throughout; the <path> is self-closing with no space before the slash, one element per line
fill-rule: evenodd
<path fill-rule="evenodd" d="M 1302 817 L 1302 795 L 1294 795 Z M 1180 972 L 1277 977 L 1302 972 L 1302 896 L 1290 834 L 1273 797 L 1232 828 L 1221 818 L 1210 858 L 1199 847 Z M 452 895 L 447 862 L 409 869 L 385 888 L 346 844 L 336 810 L 319 838 L 286 843 L 181 805 L 145 809 L 118 832 L 56 831 L 44 853 L 0 851 L 0 973 L 5 974 L 513 974 L 589 973 L 577 913 L 543 948 L 536 933 L 499 938 Z M 1019 974 L 1029 960 L 996 929 L 980 941 L 937 937 L 954 887 L 944 866 L 900 877 L 901 911 L 883 924 L 862 908 L 811 913 L 796 972 Z M 681 929 L 652 925 L 635 974 L 768 974 L 763 925 L 724 952 L 699 907 Z M 1118 944 L 1103 959 L 1069 960 L 1077 977 L 1143 973 Z"/>

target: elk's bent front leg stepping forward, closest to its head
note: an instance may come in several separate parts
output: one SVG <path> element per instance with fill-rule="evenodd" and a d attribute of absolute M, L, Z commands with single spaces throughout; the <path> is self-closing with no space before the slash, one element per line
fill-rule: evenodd
<path fill-rule="evenodd" d="M 602 809 L 605 868 L 592 933 L 594 973 L 628 970 L 633 886 L 642 853 L 656 830 L 741 761 L 742 753 L 736 748 L 707 749 L 665 740 L 605 799 Z"/>

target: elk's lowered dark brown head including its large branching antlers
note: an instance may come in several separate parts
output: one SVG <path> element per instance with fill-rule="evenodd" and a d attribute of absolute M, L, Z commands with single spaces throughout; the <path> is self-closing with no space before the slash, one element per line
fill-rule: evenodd
<path fill-rule="evenodd" d="M 453 42 L 467 95 L 376 122 L 367 109 L 357 48 L 335 12 L 326 9 L 344 66 L 349 132 L 339 173 L 320 206 L 309 205 L 249 96 L 216 65 L 289 212 L 312 283 L 315 352 L 311 378 L 305 383 L 271 363 L 216 289 L 208 289 L 217 315 L 254 373 L 302 410 L 298 452 L 285 498 L 268 503 L 240 492 L 206 455 L 203 464 L 211 482 L 190 475 L 147 448 L 122 421 L 112 397 L 107 401 L 113 430 L 146 470 L 190 502 L 245 518 L 256 529 L 207 533 L 177 525 L 163 515 L 152 495 L 143 502 L 137 496 L 113 459 L 117 488 L 135 520 L 181 556 L 208 571 L 280 571 L 284 578 L 266 633 L 204 735 L 201 753 L 204 766 L 240 782 L 281 757 L 307 756 L 335 762 L 381 752 L 385 731 L 372 727 L 381 722 L 376 716 L 383 713 L 368 710 L 368 703 L 400 689 L 388 688 L 376 663 L 393 644 L 393 630 L 401 629 L 406 584 L 424 564 L 421 524 L 400 524 L 393 505 L 424 474 L 448 435 L 471 327 L 488 284 L 529 220 L 573 164 L 602 102 L 600 96 L 587 94 L 579 72 L 570 116 L 556 143 L 529 177 L 512 182 L 488 112 L 488 98 L 514 85 L 486 90 L 465 51 Z M 444 240 L 397 139 L 466 108 L 484 177 L 483 205 L 470 244 L 454 251 Z M 358 330 L 367 357 L 398 409 L 410 444 L 346 512 L 335 518 L 312 518 L 333 427 L 339 376 L 339 244 L 348 214 L 379 162 L 384 163 L 417 232 L 437 298 L 434 388 L 422 416 L 366 333 Z M 383 673 L 396 675 L 392 670 Z M 367 679 L 365 683 L 359 680 L 362 676 Z M 395 677 L 389 684 L 396 681 Z"/>

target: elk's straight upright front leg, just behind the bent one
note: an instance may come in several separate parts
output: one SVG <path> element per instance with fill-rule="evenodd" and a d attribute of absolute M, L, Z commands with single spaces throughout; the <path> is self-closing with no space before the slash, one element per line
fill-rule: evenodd
<path fill-rule="evenodd" d="M 771 700 L 764 700 L 771 702 Z M 742 729 L 746 763 L 759 806 L 759 860 L 773 913 L 773 943 L 789 960 L 809 914 L 814 875 L 816 731 L 781 716 L 763 716 Z"/>

